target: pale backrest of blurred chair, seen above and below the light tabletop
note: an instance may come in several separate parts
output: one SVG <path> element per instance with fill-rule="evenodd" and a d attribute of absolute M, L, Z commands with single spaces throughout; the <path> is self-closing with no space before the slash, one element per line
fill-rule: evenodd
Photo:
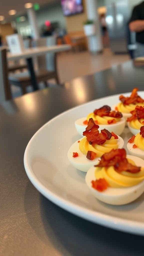
<path fill-rule="evenodd" d="M 48 36 L 42 37 L 34 41 L 34 46 L 53 46 L 56 45 L 56 37 Z M 38 56 L 38 68 L 47 69 L 49 71 L 55 71 L 55 53 L 48 53 L 46 55 Z"/>

